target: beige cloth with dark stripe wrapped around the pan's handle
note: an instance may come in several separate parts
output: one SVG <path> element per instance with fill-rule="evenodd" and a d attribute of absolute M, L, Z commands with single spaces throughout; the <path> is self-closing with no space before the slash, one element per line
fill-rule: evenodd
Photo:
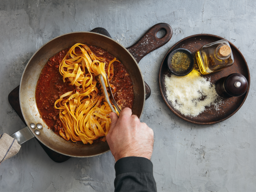
<path fill-rule="evenodd" d="M 0 163 L 16 155 L 20 147 L 16 139 L 6 133 L 0 135 Z"/>

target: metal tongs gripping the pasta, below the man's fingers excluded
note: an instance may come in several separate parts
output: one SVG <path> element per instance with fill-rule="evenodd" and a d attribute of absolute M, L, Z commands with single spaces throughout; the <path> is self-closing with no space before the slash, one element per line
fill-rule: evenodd
<path fill-rule="evenodd" d="M 102 94 L 104 95 L 105 97 L 105 100 L 106 102 L 108 103 L 110 109 L 112 110 L 113 113 L 116 113 L 116 110 L 113 108 L 111 102 L 114 104 L 114 106 L 116 107 L 118 113 L 120 114 L 121 113 L 121 109 L 119 108 L 118 104 L 116 103 L 116 101 L 114 100 L 114 97 L 113 97 L 113 94 L 112 94 L 112 91 L 111 91 L 111 87 L 109 85 L 109 82 L 108 82 L 108 77 L 107 77 L 107 84 L 108 84 L 108 90 L 109 92 L 107 92 L 107 88 L 106 88 L 106 85 L 104 83 L 104 79 L 103 79 L 103 76 L 102 74 L 99 74 L 97 75 L 95 78 L 97 78 L 99 80 L 99 83 L 101 84 L 101 88 L 102 88 Z M 108 93 L 109 93 L 109 97 L 108 97 Z M 110 100 L 111 102 L 110 102 Z M 117 114 L 117 113 L 116 113 Z M 118 116 L 118 115 L 117 115 Z"/>

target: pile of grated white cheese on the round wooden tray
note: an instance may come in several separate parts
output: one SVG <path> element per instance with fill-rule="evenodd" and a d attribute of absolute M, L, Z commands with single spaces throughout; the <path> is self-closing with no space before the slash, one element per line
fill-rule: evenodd
<path fill-rule="evenodd" d="M 215 86 L 195 69 L 183 77 L 165 76 L 165 88 L 167 99 L 185 116 L 198 116 L 210 105 L 218 110 L 221 103 Z"/>

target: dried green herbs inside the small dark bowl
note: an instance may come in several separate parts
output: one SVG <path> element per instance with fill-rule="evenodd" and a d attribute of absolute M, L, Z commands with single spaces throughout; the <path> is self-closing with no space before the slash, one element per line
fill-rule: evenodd
<path fill-rule="evenodd" d="M 174 71 L 185 71 L 189 68 L 190 59 L 186 53 L 177 52 L 171 58 Z"/>

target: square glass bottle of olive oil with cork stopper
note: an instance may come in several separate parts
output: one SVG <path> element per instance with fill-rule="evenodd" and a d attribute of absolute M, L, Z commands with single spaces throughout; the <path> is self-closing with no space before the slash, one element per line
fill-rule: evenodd
<path fill-rule="evenodd" d="M 221 71 L 234 63 L 227 40 L 220 40 L 201 47 L 195 54 L 200 72 L 204 75 Z"/>

